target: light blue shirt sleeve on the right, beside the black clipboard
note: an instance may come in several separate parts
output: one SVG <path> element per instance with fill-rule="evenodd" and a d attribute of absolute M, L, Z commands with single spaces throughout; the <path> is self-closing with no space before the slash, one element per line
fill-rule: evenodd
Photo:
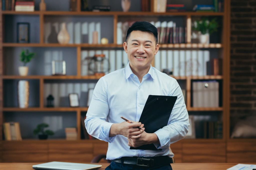
<path fill-rule="evenodd" d="M 172 87 L 169 96 L 177 96 L 168 125 L 155 132 L 160 144 L 155 144 L 157 149 L 168 148 L 170 144 L 183 139 L 188 133 L 189 119 L 188 111 L 184 101 L 182 90 L 177 81 Z"/>

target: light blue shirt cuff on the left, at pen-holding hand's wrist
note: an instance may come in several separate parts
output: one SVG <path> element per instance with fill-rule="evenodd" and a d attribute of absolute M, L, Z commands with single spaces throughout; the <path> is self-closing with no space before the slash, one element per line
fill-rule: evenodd
<path fill-rule="evenodd" d="M 110 128 L 113 123 L 105 122 L 100 127 L 100 133 L 98 135 L 98 139 L 104 140 L 105 142 L 113 142 L 116 136 L 109 137 Z"/>

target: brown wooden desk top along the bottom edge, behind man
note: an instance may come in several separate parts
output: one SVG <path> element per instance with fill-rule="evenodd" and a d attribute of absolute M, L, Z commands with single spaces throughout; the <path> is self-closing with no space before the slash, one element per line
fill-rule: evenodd
<path fill-rule="evenodd" d="M 32 165 L 39 163 L 0 163 L 1 170 L 34 170 Z M 105 169 L 109 163 L 99 163 L 102 167 L 99 170 Z M 226 170 L 237 163 L 174 163 L 171 164 L 173 170 Z"/>

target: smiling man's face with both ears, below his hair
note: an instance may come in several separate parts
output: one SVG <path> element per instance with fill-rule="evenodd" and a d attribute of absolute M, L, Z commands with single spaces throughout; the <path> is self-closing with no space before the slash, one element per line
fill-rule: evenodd
<path fill-rule="evenodd" d="M 123 44 L 132 69 L 142 71 L 150 68 L 159 45 L 151 32 L 132 31 L 127 42 Z"/>

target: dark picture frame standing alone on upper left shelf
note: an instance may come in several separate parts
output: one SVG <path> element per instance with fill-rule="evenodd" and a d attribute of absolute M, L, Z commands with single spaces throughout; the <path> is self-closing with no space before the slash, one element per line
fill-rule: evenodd
<path fill-rule="evenodd" d="M 30 24 L 17 22 L 17 43 L 30 43 Z"/>

